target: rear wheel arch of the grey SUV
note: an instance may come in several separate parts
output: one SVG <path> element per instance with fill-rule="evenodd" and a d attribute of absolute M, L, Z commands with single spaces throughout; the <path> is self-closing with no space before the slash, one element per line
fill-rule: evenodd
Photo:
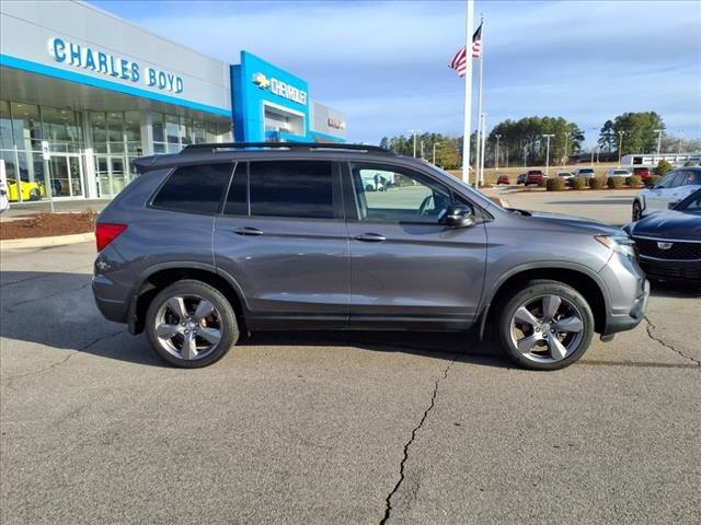
<path fill-rule="evenodd" d="M 239 326 L 244 329 L 249 307 L 243 290 L 235 279 L 212 265 L 173 261 L 149 267 L 137 279 L 129 304 L 128 322 L 131 334 L 143 331 L 146 312 L 158 292 L 183 279 L 206 282 L 223 293 L 233 307 Z"/>

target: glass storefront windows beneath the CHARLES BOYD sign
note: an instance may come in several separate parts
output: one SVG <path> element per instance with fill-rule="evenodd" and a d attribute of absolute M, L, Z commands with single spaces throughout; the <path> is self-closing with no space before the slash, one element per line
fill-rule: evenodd
<path fill-rule="evenodd" d="M 149 129 L 151 137 L 143 137 Z M 137 176 L 134 159 L 230 141 L 231 135 L 226 121 L 136 110 L 74 112 L 0 100 L 0 159 L 11 201 L 44 199 L 47 185 L 57 198 L 112 198 Z M 44 140 L 49 161 L 42 155 Z M 145 151 L 149 143 L 152 152 Z"/>

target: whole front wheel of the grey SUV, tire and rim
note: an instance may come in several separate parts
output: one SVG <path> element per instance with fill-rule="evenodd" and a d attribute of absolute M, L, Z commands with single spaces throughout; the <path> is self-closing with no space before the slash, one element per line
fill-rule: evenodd
<path fill-rule="evenodd" d="M 578 360 L 594 335 L 586 300 L 558 281 L 530 281 L 503 303 L 498 334 L 508 357 L 526 369 L 558 370 Z"/>

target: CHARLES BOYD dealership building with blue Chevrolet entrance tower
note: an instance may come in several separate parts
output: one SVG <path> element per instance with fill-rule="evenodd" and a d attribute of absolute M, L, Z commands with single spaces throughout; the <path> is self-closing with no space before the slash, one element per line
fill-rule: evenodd
<path fill-rule="evenodd" d="M 12 200 L 111 198 L 136 176 L 134 159 L 193 143 L 345 136 L 344 115 L 310 98 L 307 81 L 245 50 L 229 65 L 81 1 L 0 2 Z"/>

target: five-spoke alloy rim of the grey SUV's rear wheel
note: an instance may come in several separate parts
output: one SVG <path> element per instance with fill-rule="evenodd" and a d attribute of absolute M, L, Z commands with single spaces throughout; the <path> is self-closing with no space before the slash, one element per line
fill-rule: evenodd
<path fill-rule="evenodd" d="M 221 314 L 198 295 L 174 295 L 156 314 L 156 336 L 169 353 L 187 361 L 204 359 L 222 337 Z"/>

